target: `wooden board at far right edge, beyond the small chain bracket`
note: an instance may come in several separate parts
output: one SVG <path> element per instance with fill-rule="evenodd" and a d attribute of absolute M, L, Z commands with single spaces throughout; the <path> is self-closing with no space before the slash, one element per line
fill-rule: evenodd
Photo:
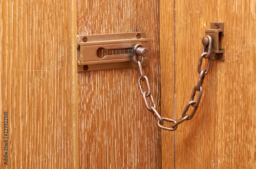
<path fill-rule="evenodd" d="M 218 63 L 218 166 L 256 168 L 256 2 L 226 0 L 218 17 L 227 28 L 226 60 Z"/>

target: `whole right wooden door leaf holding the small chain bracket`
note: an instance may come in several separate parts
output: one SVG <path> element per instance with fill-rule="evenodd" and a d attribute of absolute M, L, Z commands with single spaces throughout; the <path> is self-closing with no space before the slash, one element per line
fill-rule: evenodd
<path fill-rule="evenodd" d="M 225 22 L 225 61 L 211 62 L 196 115 L 162 131 L 163 168 L 256 167 L 255 9 L 255 1 L 160 1 L 162 116 L 181 117 L 205 30 Z"/>

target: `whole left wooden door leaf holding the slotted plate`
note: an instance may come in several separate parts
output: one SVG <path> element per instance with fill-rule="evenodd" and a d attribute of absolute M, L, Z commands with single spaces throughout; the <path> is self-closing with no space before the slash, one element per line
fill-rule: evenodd
<path fill-rule="evenodd" d="M 0 13 L 1 168 L 161 166 L 161 131 L 137 68 L 77 73 L 75 38 L 146 32 L 145 75 L 160 111 L 159 1 L 8 0 Z"/>

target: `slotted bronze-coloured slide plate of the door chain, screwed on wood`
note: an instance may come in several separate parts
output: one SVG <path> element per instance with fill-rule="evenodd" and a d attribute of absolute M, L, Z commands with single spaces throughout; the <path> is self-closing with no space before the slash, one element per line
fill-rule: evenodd
<path fill-rule="evenodd" d="M 144 46 L 136 50 L 137 55 L 144 57 L 144 66 L 150 58 L 148 41 L 145 32 L 77 35 L 77 71 L 136 67 L 133 48 L 138 43 Z"/>

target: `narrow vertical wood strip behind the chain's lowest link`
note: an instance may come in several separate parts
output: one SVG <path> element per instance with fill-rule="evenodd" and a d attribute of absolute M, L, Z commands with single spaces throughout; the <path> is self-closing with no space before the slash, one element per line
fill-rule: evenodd
<path fill-rule="evenodd" d="M 161 88 L 162 116 L 176 118 L 175 114 L 175 29 L 174 7 L 169 1 L 160 1 L 160 49 L 161 49 Z M 170 127 L 165 122 L 164 126 Z M 173 168 L 175 160 L 175 134 L 166 130 L 161 131 L 162 168 Z"/>

